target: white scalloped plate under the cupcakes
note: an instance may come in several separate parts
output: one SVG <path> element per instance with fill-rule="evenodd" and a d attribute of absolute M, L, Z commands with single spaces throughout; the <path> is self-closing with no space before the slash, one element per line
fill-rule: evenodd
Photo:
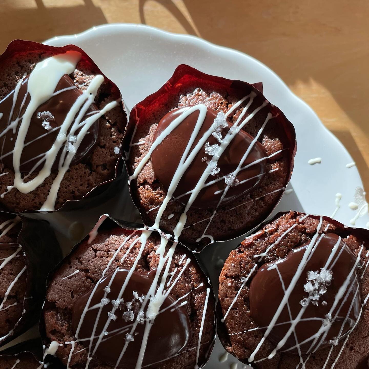
<path fill-rule="evenodd" d="M 200 38 L 172 34 L 137 24 L 110 24 L 91 28 L 78 35 L 55 37 L 45 41 L 53 46 L 75 44 L 84 49 L 113 80 L 122 93 L 125 105 L 134 104 L 159 89 L 171 76 L 177 65 L 188 64 L 205 73 L 249 83 L 263 82 L 266 98 L 278 106 L 294 124 L 297 136 L 297 154 L 289 193 L 285 193 L 276 211 L 300 210 L 311 214 L 331 216 L 336 208 L 336 193 L 342 194 L 341 208 L 335 218 L 347 225 L 359 210 L 348 204 L 355 199 L 355 191 L 362 188 L 356 166 L 346 168 L 353 159 L 338 139 L 321 123 L 314 111 L 296 95 L 268 67 L 241 52 L 210 44 Z M 309 165 L 312 158 L 321 163 Z M 359 191 L 360 192 L 360 191 Z M 357 197 L 357 196 L 356 196 Z M 369 221 L 367 206 L 356 220 L 356 226 L 365 227 Z M 227 246 L 210 246 L 200 258 L 206 262 L 214 287 L 219 266 L 238 241 Z M 219 357 L 224 349 L 219 342 L 206 368 L 229 368 L 237 360 L 228 356 L 224 363 Z M 244 366 L 239 363 L 238 369 Z"/>

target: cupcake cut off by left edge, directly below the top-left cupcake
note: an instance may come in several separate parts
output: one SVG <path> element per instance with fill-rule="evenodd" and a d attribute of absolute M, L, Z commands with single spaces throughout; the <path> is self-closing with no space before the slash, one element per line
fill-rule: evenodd
<path fill-rule="evenodd" d="M 17 237 L 20 219 L 0 212 L 0 342 L 13 335 L 23 315 L 27 270 Z"/>

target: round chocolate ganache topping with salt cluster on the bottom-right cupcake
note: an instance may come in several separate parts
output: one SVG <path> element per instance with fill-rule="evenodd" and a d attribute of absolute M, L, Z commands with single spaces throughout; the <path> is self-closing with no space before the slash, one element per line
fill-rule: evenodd
<path fill-rule="evenodd" d="M 361 309 L 361 260 L 345 242 L 336 234 L 323 235 L 306 264 L 300 266 L 306 249 L 307 245 L 297 247 L 286 258 L 264 264 L 250 286 L 251 315 L 265 331 L 286 299 L 293 276 L 302 271 L 268 335 L 268 340 L 277 346 L 288 334 L 280 351 L 291 354 L 310 354 L 337 345 L 354 328 Z M 296 318 L 294 330 L 288 333 Z"/>

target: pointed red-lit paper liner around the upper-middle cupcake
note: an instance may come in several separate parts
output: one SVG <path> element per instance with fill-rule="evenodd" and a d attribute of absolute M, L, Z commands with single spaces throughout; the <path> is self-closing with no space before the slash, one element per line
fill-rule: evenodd
<path fill-rule="evenodd" d="M 165 106 L 166 102 L 170 100 L 170 97 L 177 96 L 180 94 L 183 89 L 186 89 L 186 87 L 196 87 L 197 85 L 203 85 L 203 84 L 209 85 L 209 86 L 216 86 L 222 90 L 237 90 L 239 92 L 247 91 L 246 94 L 250 92 L 256 93 L 256 96 L 259 98 L 266 100 L 265 97 L 262 94 L 263 86 L 262 83 L 255 83 L 254 85 L 251 85 L 247 82 L 242 82 L 240 80 L 230 80 L 223 77 L 217 77 L 208 75 L 205 73 L 200 72 L 197 69 L 194 69 L 188 65 L 181 64 L 179 65 L 173 76 L 168 80 L 168 82 L 165 83 L 159 89 L 157 92 L 151 94 L 150 96 L 146 97 L 145 100 L 141 101 L 140 103 L 136 104 L 134 108 L 131 110 L 131 114 L 129 117 L 129 121 L 127 124 L 127 129 L 125 130 L 125 134 L 123 137 L 122 142 L 122 148 L 121 148 L 121 155 L 123 156 L 123 159 L 125 161 L 126 169 L 128 171 L 129 175 L 133 174 L 133 169 L 130 167 L 130 163 L 128 160 L 129 152 L 130 152 L 130 141 L 132 136 L 135 133 L 135 127 L 136 124 L 139 124 L 139 118 L 141 113 L 148 109 L 149 111 L 156 111 L 159 110 L 162 106 Z M 287 120 L 286 116 L 283 114 L 283 112 L 274 106 L 273 104 L 269 105 L 270 112 L 273 115 L 277 115 L 275 119 L 277 120 L 278 124 L 280 125 L 281 132 L 284 132 L 284 137 L 281 137 L 281 141 L 283 142 L 284 148 L 286 148 L 288 152 L 288 159 L 289 159 L 289 170 L 288 170 L 288 176 L 286 178 L 286 181 L 284 183 L 284 188 L 287 186 L 287 183 L 291 179 L 292 170 L 294 166 L 294 156 L 296 154 L 296 133 L 294 130 L 294 127 L 292 123 Z M 146 211 L 141 209 L 140 201 L 135 196 L 135 191 L 133 190 L 133 187 L 136 186 L 136 182 L 132 181 L 130 182 L 130 193 L 132 200 L 137 207 L 137 209 L 141 213 L 142 221 L 145 225 L 149 226 L 151 224 L 151 220 L 146 216 Z M 232 235 L 232 237 L 224 238 L 224 239 L 214 239 L 214 241 L 230 241 L 231 239 L 237 238 L 243 234 L 246 234 L 247 232 L 251 231 L 253 228 L 258 226 L 262 221 L 264 221 L 266 218 L 272 214 L 273 210 L 279 203 L 280 199 L 282 198 L 282 195 L 284 193 L 284 190 L 279 191 L 279 197 L 275 204 L 270 208 L 269 213 L 266 214 L 264 217 L 260 219 L 256 219 L 254 224 L 252 224 L 250 227 L 245 228 L 239 232 L 235 232 L 235 234 Z M 169 230 L 166 230 L 169 232 Z M 180 239 L 181 241 L 181 239 Z M 185 241 L 183 241 L 185 242 Z M 207 245 L 209 245 L 211 242 L 208 242 L 207 244 L 190 244 L 190 242 L 186 241 L 186 246 L 190 248 L 193 252 L 200 252 L 203 250 Z"/>

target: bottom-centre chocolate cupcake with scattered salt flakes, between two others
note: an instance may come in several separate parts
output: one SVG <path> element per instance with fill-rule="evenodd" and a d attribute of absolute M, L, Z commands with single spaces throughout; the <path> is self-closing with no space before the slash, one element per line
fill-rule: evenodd
<path fill-rule="evenodd" d="M 49 282 L 45 332 L 62 344 L 58 358 L 72 369 L 201 368 L 214 296 L 192 253 L 155 231 L 97 227 Z"/>

